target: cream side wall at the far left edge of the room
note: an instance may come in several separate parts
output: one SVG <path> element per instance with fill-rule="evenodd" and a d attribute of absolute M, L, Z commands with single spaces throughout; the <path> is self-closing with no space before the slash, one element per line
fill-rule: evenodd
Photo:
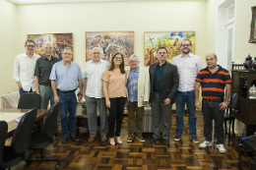
<path fill-rule="evenodd" d="M 17 6 L 8 0 L 0 0 L 0 95 L 18 89 L 12 81 L 14 59 L 18 54 Z"/>

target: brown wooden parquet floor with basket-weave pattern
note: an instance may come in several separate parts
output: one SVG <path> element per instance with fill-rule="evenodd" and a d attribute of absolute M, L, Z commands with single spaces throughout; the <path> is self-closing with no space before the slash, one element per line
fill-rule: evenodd
<path fill-rule="evenodd" d="M 197 112 L 197 136 L 200 142 L 204 142 L 202 113 Z M 162 141 L 151 143 L 152 134 L 144 134 L 146 142 L 126 142 L 128 119 L 124 117 L 121 139 L 123 144 L 109 145 L 109 142 L 98 141 L 89 143 L 88 134 L 80 129 L 81 142 L 61 143 L 57 138 L 56 142 L 45 148 L 47 159 L 60 159 L 59 169 L 65 170 L 238 170 L 237 151 L 231 146 L 225 147 L 227 152 L 222 154 L 216 148 L 211 147 L 200 149 L 198 144 L 189 141 L 187 116 L 184 116 L 185 131 L 180 142 L 174 142 L 175 136 L 175 115 L 172 116 L 171 139 L 169 145 L 163 145 Z M 40 152 L 36 151 L 31 155 L 32 159 L 39 159 Z M 25 166 L 20 163 L 14 170 L 55 169 L 55 162 L 32 163 Z M 242 156 L 242 169 L 253 169 L 253 160 L 249 156 Z"/>

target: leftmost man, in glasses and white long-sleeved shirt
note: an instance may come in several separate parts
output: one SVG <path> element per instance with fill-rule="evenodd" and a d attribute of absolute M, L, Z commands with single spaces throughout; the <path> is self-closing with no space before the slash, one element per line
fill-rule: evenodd
<path fill-rule="evenodd" d="M 33 53 L 35 43 L 32 39 L 27 39 L 25 42 L 26 52 L 19 54 L 14 63 L 14 77 L 13 80 L 20 88 L 20 96 L 26 92 L 35 91 L 34 85 L 34 68 L 35 62 L 40 57 Z"/>

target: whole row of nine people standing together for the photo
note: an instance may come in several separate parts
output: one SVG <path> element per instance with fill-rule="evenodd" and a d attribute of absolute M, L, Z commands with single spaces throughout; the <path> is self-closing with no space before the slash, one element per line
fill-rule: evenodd
<path fill-rule="evenodd" d="M 149 70 L 139 67 L 139 57 L 134 54 L 129 57 L 128 70 L 124 68 L 124 56 L 121 53 L 115 53 L 109 64 L 101 59 L 102 49 L 95 47 L 92 49 L 92 60 L 85 64 L 82 74 L 80 66 L 72 61 L 71 48 L 64 48 L 62 60 L 59 61 L 51 56 L 52 43 L 45 42 L 44 55 L 39 57 L 33 53 L 35 43 L 32 39 L 28 39 L 25 44 L 27 52 L 16 57 L 13 80 L 19 85 L 21 95 L 30 91 L 40 94 L 42 109 L 47 108 L 49 100 L 51 105 L 57 101 L 61 102 L 61 142 L 63 143 L 68 141 L 68 130 L 70 139 L 79 141 L 76 137 L 77 100 L 81 101 L 85 94 L 90 132 L 88 142 L 96 141 L 98 108 L 100 141 L 106 142 L 108 133 L 111 145 L 115 145 L 115 142 L 122 143 L 120 133 L 125 105 L 128 109 L 127 142 L 134 140 L 134 126 L 136 126 L 136 139 L 145 142 L 142 136 L 142 120 L 144 106 L 148 103 L 151 103 L 153 114 L 154 134 L 151 142 L 159 141 L 161 133 L 163 144 L 169 144 L 173 103 L 176 104 L 174 141 L 180 141 L 182 138 L 186 105 L 190 140 L 199 142 L 196 135 L 195 110 L 201 108 L 199 101 L 201 86 L 206 141 L 199 146 L 205 148 L 212 145 L 214 119 L 217 148 L 220 152 L 225 152 L 224 110 L 230 95 L 230 76 L 224 68 L 217 65 L 218 59 L 215 54 L 206 56 L 207 67 L 203 69 L 201 58 L 190 52 L 191 42 L 184 39 L 180 46 L 181 54 L 174 57 L 171 64 L 166 61 L 166 48 L 160 47 L 157 51 L 159 62 L 152 64 Z M 78 86 L 80 91 L 76 94 Z M 69 120 L 67 120 L 68 113 Z M 136 125 L 134 125 L 135 117 Z"/>

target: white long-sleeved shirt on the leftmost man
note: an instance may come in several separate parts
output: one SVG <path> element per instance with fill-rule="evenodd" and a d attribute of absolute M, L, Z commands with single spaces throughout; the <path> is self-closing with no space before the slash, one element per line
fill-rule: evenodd
<path fill-rule="evenodd" d="M 35 62 L 40 56 L 33 54 L 30 58 L 26 53 L 19 54 L 14 63 L 14 77 L 15 82 L 21 82 L 23 89 L 26 91 L 35 91 L 34 85 L 34 68 Z"/>

